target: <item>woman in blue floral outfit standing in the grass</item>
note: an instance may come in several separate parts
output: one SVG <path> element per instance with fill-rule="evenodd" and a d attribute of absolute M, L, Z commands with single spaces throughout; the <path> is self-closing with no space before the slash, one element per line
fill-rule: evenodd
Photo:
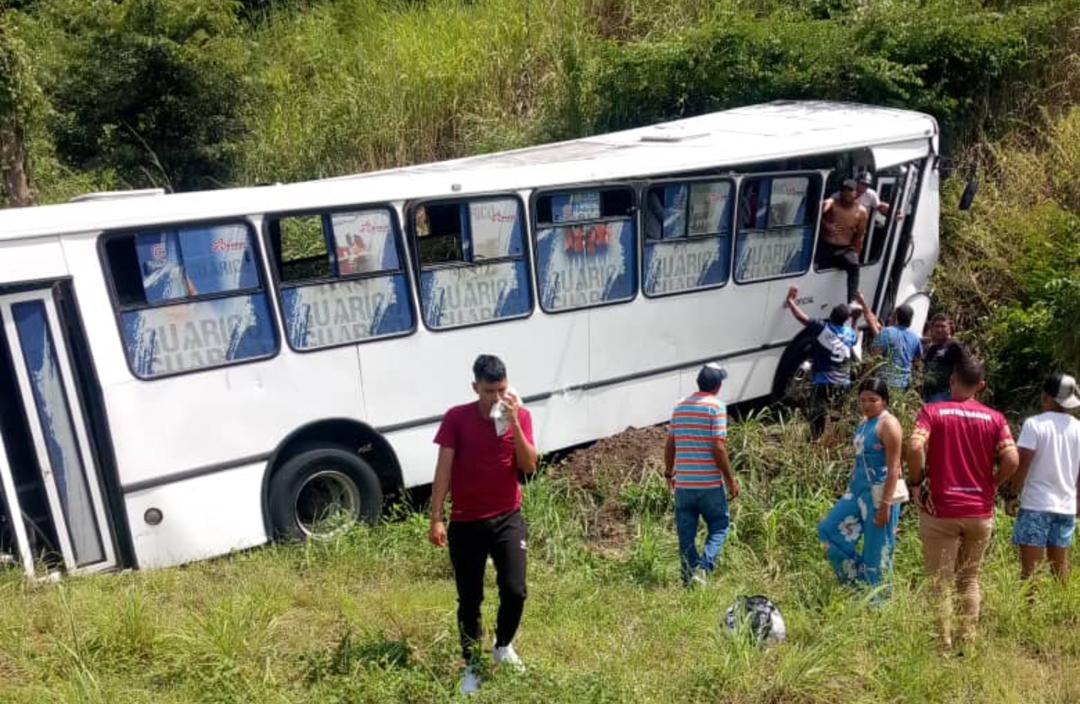
<path fill-rule="evenodd" d="M 889 412 L 889 387 L 870 378 L 859 385 L 863 422 L 855 430 L 855 468 L 848 491 L 818 525 L 833 570 L 846 584 L 877 586 L 892 567 L 901 504 L 904 431 Z M 863 550 L 856 549 L 862 539 Z"/>

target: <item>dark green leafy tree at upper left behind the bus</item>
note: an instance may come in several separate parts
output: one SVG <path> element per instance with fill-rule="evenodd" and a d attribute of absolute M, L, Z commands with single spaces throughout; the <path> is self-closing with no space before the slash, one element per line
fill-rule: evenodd
<path fill-rule="evenodd" d="M 121 184 L 229 180 L 252 97 L 232 0 L 58 0 L 36 16 L 60 161 Z"/>

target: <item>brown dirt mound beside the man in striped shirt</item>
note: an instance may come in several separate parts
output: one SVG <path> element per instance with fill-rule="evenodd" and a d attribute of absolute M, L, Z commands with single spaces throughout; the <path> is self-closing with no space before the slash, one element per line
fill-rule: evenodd
<path fill-rule="evenodd" d="M 629 428 L 571 452 L 552 474 L 590 499 L 585 538 L 600 553 L 620 552 L 633 539 L 634 516 L 620 501 L 623 491 L 650 473 L 664 472 L 664 428 Z"/>

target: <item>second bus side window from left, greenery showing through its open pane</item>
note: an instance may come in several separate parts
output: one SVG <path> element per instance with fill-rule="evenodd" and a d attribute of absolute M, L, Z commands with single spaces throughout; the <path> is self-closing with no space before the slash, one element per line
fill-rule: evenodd
<path fill-rule="evenodd" d="M 298 351 L 408 335 L 415 329 L 401 238 L 389 208 L 279 216 L 285 338 Z"/>

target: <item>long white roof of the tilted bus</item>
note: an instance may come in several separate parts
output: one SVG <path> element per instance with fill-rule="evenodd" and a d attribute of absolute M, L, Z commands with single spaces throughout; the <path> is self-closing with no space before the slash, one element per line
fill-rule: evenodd
<path fill-rule="evenodd" d="M 781 100 L 647 127 L 289 185 L 90 200 L 0 211 L 0 241 L 336 205 L 507 192 L 687 173 L 937 135 L 930 116 Z M 924 153 L 924 152 L 923 152 Z"/>

